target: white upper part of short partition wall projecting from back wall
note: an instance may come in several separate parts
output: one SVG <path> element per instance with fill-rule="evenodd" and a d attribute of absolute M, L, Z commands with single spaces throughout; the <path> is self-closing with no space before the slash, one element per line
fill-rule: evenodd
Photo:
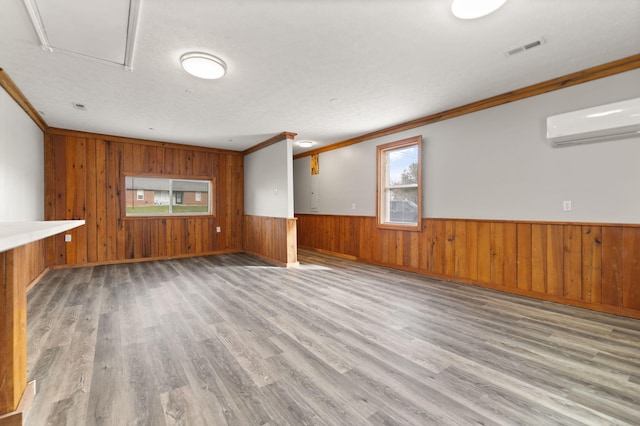
<path fill-rule="evenodd" d="M 293 217 L 293 143 L 285 139 L 244 157 L 244 213 Z"/>

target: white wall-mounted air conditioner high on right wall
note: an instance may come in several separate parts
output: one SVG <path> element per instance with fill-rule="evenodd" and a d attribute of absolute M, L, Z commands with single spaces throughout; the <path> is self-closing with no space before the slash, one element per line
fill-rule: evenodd
<path fill-rule="evenodd" d="M 615 102 L 547 118 L 553 146 L 640 137 L 640 98 Z"/>

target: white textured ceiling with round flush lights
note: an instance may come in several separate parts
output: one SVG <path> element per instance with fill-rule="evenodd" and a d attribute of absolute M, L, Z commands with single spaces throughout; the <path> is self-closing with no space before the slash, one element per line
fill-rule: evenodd
<path fill-rule="evenodd" d="M 39 2 L 78 29 L 76 51 L 104 39 L 95 32 L 126 31 L 104 9 L 121 0 Z M 473 21 L 450 4 L 142 0 L 125 71 L 42 50 L 22 0 L 4 0 L 0 67 L 52 127 L 244 150 L 283 131 L 328 145 L 640 53 L 640 0 L 509 0 Z M 227 75 L 182 71 L 179 57 L 194 50 L 223 58 Z"/>

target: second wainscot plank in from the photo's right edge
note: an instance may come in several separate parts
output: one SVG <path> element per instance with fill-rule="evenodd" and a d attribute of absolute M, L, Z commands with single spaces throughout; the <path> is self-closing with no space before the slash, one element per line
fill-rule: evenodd
<path fill-rule="evenodd" d="M 622 227 L 602 227 L 602 304 L 622 306 Z"/>

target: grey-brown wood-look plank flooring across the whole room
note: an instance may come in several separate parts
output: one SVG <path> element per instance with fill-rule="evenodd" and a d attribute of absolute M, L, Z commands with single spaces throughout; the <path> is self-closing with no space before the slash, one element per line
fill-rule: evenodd
<path fill-rule="evenodd" d="M 27 424 L 640 424 L 638 320 L 299 258 L 50 271 Z"/>

